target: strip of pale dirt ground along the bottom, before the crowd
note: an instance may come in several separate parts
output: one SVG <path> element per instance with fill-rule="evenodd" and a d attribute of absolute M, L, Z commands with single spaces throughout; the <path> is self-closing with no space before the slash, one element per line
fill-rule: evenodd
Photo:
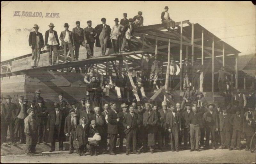
<path fill-rule="evenodd" d="M 81 156 L 68 152 L 60 154 L 37 154 L 34 156 L 1 156 L 1 163 L 255 163 L 256 153 L 228 149 L 202 150 L 201 152 L 150 152 L 139 155 L 125 153 L 116 156 L 103 154 Z"/>

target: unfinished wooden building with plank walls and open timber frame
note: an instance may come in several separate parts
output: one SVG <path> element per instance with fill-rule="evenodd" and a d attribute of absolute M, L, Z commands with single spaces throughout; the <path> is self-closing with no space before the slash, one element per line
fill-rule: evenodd
<path fill-rule="evenodd" d="M 101 77 L 106 75 L 108 68 L 112 68 L 113 75 L 117 75 L 122 67 L 126 67 L 129 68 L 128 74 L 135 76 L 135 71 L 143 71 L 141 61 L 145 54 L 149 54 L 151 58 L 158 54 L 163 62 L 162 72 L 157 82 L 158 91 L 163 90 L 163 94 L 154 97 L 154 92 L 147 91 L 148 98 L 163 101 L 164 95 L 167 96 L 168 87 L 165 85 L 165 79 L 167 79 L 166 68 L 170 57 L 173 57 L 179 66 L 186 57 L 190 59 L 192 65 L 195 60 L 200 60 L 204 66 L 200 77 L 200 91 L 211 101 L 215 99 L 222 101 L 218 93 L 218 75 L 213 74 L 220 69 L 220 66 L 225 66 L 225 69 L 232 74 L 227 77 L 231 81 L 231 86 L 238 87 L 238 54 L 241 52 L 223 42 L 200 24 L 190 23 L 189 20 L 176 22 L 175 30 L 172 32 L 168 32 L 163 24 L 135 28 L 132 47 L 133 51 L 120 54 L 112 54 L 112 49 L 108 49 L 108 56 L 103 57 L 99 55 L 99 48 L 95 47 L 94 56 L 96 57 L 91 59 L 85 59 L 86 50 L 80 47 L 79 61 L 69 63 L 62 63 L 63 51 L 59 51 L 59 63 L 53 66 L 49 66 L 48 52 L 44 51 L 41 54 L 40 67 L 34 69 L 30 69 L 31 54 L 3 61 L 1 62 L 1 93 L 11 96 L 19 93 L 31 99 L 34 91 L 40 89 L 46 104 L 52 104 L 58 100 L 57 93 L 60 91 L 64 93 L 65 99 L 80 100 L 85 96 L 84 73 L 75 73 L 76 67 L 81 69 L 81 67 L 94 66 Z M 183 95 L 180 80 L 182 80 L 181 73 L 178 75 L 174 90 L 171 91 L 177 101 Z"/>

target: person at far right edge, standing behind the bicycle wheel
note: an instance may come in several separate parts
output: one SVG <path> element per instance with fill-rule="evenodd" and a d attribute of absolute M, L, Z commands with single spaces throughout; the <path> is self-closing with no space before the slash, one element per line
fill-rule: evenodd
<path fill-rule="evenodd" d="M 245 121 L 244 130 L 243 130 L 243 132 L 245 133 L 245 136 L 246 136 L 245 151 L 249 150 L 251 138 L 252 138 L 253 134 L 255 133 L 255 128 L 256 128 L 255 120 L 252 119 L 252 117 L 253 117 L 252 112 L 248 112 L 247 116 L 248 116 L 249 120 Z"/>

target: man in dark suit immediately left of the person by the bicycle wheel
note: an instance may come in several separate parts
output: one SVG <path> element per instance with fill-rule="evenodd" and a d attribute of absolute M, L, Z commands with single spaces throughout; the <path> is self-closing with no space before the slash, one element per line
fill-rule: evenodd
<path fill-rule="evenodd" d="M 233 150 L 236 145 L 237 150 L 240 148 L 240 138 L 243 131 L 243 115 L 240 113 L 240 108 L 236 108 L 236 114 L 233 114 L 229 119 L 230 124 L 233 126 L 233 134 L 229 150 Z"/>

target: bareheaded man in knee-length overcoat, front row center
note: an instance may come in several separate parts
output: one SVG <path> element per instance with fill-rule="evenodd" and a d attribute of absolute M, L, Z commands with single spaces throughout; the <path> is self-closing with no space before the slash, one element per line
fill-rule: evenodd
<path fill-rule="evenodd" d="M 154 147 L 156 145 L 156 132 L 158 121 L 157 113 L 152 110 L 149 103 L 145 103 L 145 113 L 143 114 L 143 125 L 145 127 L 145 139 L 143 148 L 146 152 L 147 145 L 149 146 L 150 153 L 154 153 Z"/>

